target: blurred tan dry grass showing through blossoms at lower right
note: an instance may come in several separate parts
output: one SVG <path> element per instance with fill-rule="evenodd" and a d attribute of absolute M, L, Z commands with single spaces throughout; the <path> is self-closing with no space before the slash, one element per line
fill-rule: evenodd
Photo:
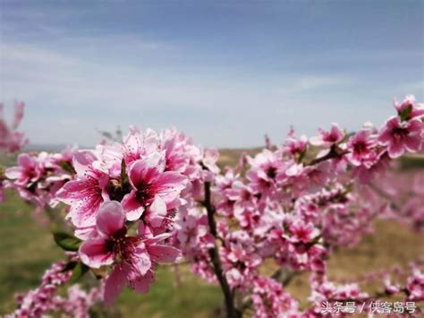
<path fill-rule="evenodd" d="M 422 234 L 392 220 L 377 220 L 374 233 L 363 236 L 359 245 L 335 251 L 329 261 L 328 278 L 354 282 L 370 272 L 390 271 L 394 267 L 408 269 L 408 263 L 420 256 L 424 256 Z M 383 288 L 381 281 L 362 283 L 360 287 L 369 293 Z M 310 296 L 309 275 L 295 277 L 287 289 L 301 300 L 301 305 L 306 305 Z"/>

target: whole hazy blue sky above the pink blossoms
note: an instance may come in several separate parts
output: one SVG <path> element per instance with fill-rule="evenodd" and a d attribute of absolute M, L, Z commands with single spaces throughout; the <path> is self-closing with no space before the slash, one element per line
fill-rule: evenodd
<path fill-rule="evenodd" d="M 32 143 L 175 126 L 217 147 L 380 125 L 424 98 L 422 1 L 1 1 L 0 99 Z"/>

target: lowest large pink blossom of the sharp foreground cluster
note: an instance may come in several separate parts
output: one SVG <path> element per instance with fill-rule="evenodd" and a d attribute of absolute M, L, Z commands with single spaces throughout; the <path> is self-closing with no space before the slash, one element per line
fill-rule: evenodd
<path fill-rule="evenodd" d="M 80 247 L 81 261 L 91 268 L 114 264 L 106 279 L 105 303 L 110 305 L 128 284 L 139 293 L 148 292 L 154 280 L 156 262 L 174 262 L 180 252 L 159 244 L 171 234 L 151 236 L 140 226 L 137 236 L 127 236 L 125 214 L 119 202 L 105 202 L 98 211 L 96 226 L 99 236 L 91 237 Z"/>

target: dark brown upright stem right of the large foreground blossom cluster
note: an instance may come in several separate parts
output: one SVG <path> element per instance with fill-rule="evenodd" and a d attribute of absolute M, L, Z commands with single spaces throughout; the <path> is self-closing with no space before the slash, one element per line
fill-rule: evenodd
<path fill-rule="evenodd" d="M 205 182 L 204 206 L 206 210 L 208 211 L 208 225 L 209 225 L 210 233 L 215 238 L 217 238 L 216 221 L 215 221 L 216 209 L 211 201 L 210 182 Z M 241 314 L 237 311 L 237 309 L 234 306 L 233 292 L 231 291 L 230 285 L 228 284 L 228 281 L 225 278 L 224 271 L 222 269 L 221 259 L 219 257 L 218 246 L 216 245 L 216 243 L 214 244 L 214 247 L 208 250 L 208 253 L 212 261 L 212 264 L 214 265 L 216 278 L 218 279 L 219 284 L 221 285 L 221 289 L 224 293 L 226 317 L 227 318 L 241 317 Z"/>

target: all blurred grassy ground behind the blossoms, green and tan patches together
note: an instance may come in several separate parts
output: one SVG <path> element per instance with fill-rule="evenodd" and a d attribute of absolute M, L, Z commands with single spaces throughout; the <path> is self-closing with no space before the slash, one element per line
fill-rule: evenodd
<path fill-rule="evenodd" d="M 237 161 L 232 151 L 223 152 L 225 164 Z M 413 159 L 412 164 L 405 165 L 411 166 L 422 167 L 422 160 Z M 49 264 L 64 258 L 47 228 L 31 217 L 32 208 L 13 193 L 6 197 L 6 202 L 0 204 L 0 316 L 13 310 L 15 292 L 36 287 Z M 404 266 L 424 256 L 422 235 L 394 221 L 378 221 L 375 228 L 375 235 L 364 236 L 360 245 L 335 252 L 330 261 L 330 277 L 355 279 L 366 272 Z M 118 299 L 117 309 L 123 317 L 216 316 L 222 303 L 219 289 L 192 275 L 187 267 L 182 266 L 180 271 L 182 282 L 177 286 L 174 268 L 160 268 L 148 295 L 126 290 Z M 288 289 L 305 304 L 310 293 L 307 275 L 293 279 Z"/>

